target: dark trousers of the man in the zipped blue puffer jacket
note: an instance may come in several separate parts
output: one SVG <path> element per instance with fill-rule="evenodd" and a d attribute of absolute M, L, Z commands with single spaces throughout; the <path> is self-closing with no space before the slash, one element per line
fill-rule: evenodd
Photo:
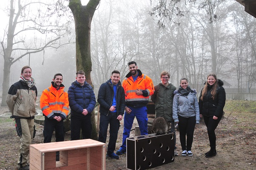
<path fill-rule="evenodd" d="M 82 139 L 90 139 L 91 138 L 91 114 L 88 116 L 82 116 L 82 117 L 71 114 L 71 118 L 70 118 L 71 141 L 80 139 L 81 129 L 82 129 Z"/>

